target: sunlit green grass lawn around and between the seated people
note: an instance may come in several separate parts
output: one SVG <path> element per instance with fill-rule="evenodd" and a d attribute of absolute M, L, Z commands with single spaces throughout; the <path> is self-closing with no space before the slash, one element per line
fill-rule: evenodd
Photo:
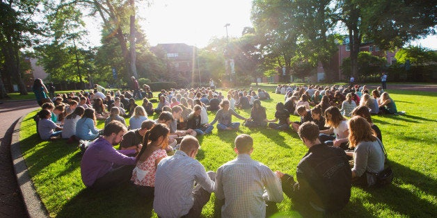
<path fill-rule="evenodd" d="M 269 87 L 272 89 L 273 87 Z M 437 103 L 435 92 L 388 90 L 405 115 L 374 116 L 381 128 L 390 164 L 395 173 L 392 185 L 382 188 L 353 187 L 350 203 L 333 217 L 436 217 L 437 215 L 437 156 L 435 134 Z M 273 119 L 276 102 L 283 95 L 271 94 L 272 99 L 262 101 L 267 118 Z M 250 110 L 237 110 L 248 117 Z M 81 182 L 81 155 L 77 144 L 64 140 L 42 142 L 35 131 L 35 122 L 27 115 L 21 126 L 20 146 L 29 167 L 36 190 L 51 217 L 156 217 L 150 199 L 140 199 L 129 185 L 106 192 L 86 190 Z M 209 121 L 214 114 L 209 113 Z M 299 118 L 292 116 L 291 120 Z M 238 121 L 233 118 L 233 121 Z M 103 127 L 103 121 L 98 126 Z M 241 127 L 237 132 L 217 133 L 199 137 L 202 150 L 197 160 L 207 170 L 216 171 L 228 160 L 236 157 L 233 141 L 240 133 L 254 139 L 252 158 L 264 162 L 274 170 L 295 176 L 296 165 L 306 153 L 296 133 L 271 129 Z M 214 204 L 215 196 L 202 210 L 203 217 L 217 217 L 220 208 Z M 299 216 L 292 212 L 292 201 L 278 204 L 278 217 Z"/>

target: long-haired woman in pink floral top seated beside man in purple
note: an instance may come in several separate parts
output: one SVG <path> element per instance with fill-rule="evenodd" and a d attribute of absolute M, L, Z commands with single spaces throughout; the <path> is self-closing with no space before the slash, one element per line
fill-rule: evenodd
<path fill-rule="evenodd" d="M 144 146 L 136 156 L 136 167 L 131 181 L 138 192 L 152 200 L 154 194 L 154 174 L 162 158 L 166 158 L 168 146 L 168 130 L 164 124 L 156 124 L 144 135 Z"/>

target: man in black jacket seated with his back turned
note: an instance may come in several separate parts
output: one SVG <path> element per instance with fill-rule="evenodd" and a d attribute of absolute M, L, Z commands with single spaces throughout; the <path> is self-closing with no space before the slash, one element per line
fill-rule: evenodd
<path fill-rule="evenodd" d="M 296 183 L 293 176 L 276 171 L 284 193 L 303 215 L 314 217 L 315 212 L 335 212 L 349 202 L 351 196 L 351 168 L 343 149 L 327 146 L 319 141 L 319 127 L 314 122 L 299 126 L 299 137 L 308 153 L 297 165 Z"/>

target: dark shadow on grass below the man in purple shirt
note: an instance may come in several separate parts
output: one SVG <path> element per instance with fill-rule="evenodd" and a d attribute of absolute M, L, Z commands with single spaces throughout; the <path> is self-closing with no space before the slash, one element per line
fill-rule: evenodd
<path fill-rule="evenodd" d="M 68 200 L 56 217 L 152 217 L 153 201 L 123 183 L 110 190 L 81 190 Z"/>

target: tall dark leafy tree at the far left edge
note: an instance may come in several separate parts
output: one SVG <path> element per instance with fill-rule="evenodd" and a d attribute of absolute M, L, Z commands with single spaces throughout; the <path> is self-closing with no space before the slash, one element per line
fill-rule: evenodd
<path fill-rule="evenodd" d="M 36 40 L 34 36 L 42 33 L 42 28 L 33 21 L 33 17 L 38 15 L 39 3 L 40 1 L 12 0 L 0 2 L 1 54 L 5 60 L 7 76 L 15 79 L 22 95 L 26 95 L 27 90 L 22 80 L 20 49 L 30 47 Z M 12 83 L 9 85 L 12 87 Z"/>

